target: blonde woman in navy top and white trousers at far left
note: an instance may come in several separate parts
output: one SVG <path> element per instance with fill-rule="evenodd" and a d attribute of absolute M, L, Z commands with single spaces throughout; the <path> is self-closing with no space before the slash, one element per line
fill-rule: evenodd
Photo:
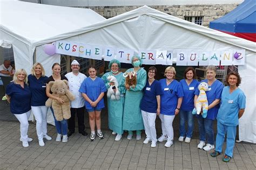
<path fill-rule="evenodd" d="M 29 146 L 29 141 L 32 138 L 28 137 L 29 122 L 31 114 L 31 91 L 28 86 L 28 74 L 24 69 L 17 69 L 14 74 L 14 79 L 6 87 L 7 100 L 10 104 L 11 112 L 21 123 L 21 138 L 23 147 Z"/>

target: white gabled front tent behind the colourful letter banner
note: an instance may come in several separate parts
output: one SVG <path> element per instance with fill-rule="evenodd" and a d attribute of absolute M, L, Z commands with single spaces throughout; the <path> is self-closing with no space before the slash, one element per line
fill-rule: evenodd
<path fill-rule="evenodd" d="M 31 12 L 32 13 L 32 12 Z M 42 21 L 41 21 L 42 22 Z M 69 33 L 60 34 L 51 41 L 63 39 L 77 43 L 99 46 L 109 46 L 123 49 L 140 49 L 163 51 L 166 49 L 180 50 L 211 50 L 220 51 L 233 48 L 246 49 L 246 65 L 239 66 L 242 76 L 241 89 L 247 97 L 247 107 L 244 116 L 240 119 L 239 138 L 243 141 L 256 143 L 256 95 L 255 82 L 255 43 L 230 36 L 219 31 L 199 26 L 183 19 L 143 6 L 122 15 L 103 20 L 100 23 L 85 26 Z M 42 41 L 37 45 L 46 42 Z M 33 45 L 33 47 L 37 46 Z M 42 47 L 37 48 L 37 61 L 55 60 L 43 53 Z M 44 65 L 44 66 L 45 66 Z"/>

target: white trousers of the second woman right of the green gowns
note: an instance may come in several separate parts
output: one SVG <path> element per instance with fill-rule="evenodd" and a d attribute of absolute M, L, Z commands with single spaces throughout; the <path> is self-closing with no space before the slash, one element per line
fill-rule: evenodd
<path fill-rule="evenodd" d="M 159 118 L 161 119 L 161 128 L 163 135 L 167 134 L 167 140 L 173 140 L 173 128 L 172 122 L 175 115 L 163 115 L 160 114 Z"/>

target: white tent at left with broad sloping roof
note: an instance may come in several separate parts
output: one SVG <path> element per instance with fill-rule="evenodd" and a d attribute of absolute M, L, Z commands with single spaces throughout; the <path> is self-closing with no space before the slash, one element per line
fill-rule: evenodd
<path fill-rule="evenodd" d="M 33 59 L 37 46 L 74 36 L 71 32 L 105 20 L 90 9 L 20 1 L 1 0 L 0 12 L 0 46 L 11 44 L 16 68 L 24 68 L 28 73 L 33 61 L 42 61 L 42 58 Z M 60 60 L 59 57 L 52 59 Z"/>

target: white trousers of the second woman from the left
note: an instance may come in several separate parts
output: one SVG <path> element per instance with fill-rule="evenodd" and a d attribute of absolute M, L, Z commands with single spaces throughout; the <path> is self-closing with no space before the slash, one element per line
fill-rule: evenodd
<path fill-rule="evenodd" d="M 47 133 L 47 111 L 48 107 L 45 105 L 32 107 L 31 110 L 36 118 L 36 133 L 38 140 L 42 140 L 43 136 Z"/>

